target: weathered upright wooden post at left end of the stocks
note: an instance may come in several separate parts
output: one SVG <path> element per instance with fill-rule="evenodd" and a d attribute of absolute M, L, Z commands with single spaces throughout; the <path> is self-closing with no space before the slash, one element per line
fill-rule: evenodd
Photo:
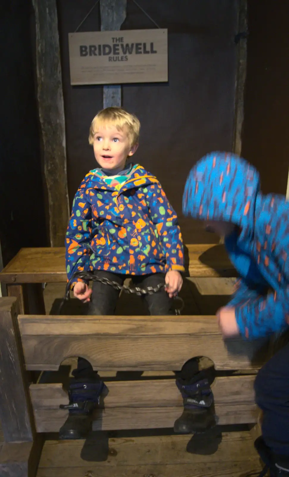
<path fill-rule="evenodd" d="M 16 298 L 0 299 L 0 420 L 6 442 L 33 440 L 17 313 Z"/>

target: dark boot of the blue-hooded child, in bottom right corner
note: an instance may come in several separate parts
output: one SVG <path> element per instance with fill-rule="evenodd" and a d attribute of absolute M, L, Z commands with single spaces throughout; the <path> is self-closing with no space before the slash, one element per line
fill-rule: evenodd
<path fill-rule="evenodd" d="M 289 477 L 289 456 L 274 454 L 265 444 L 262 436 L 256 439 L 254 446 L 265 464 L 259 477 L 265 476 L 268 470 L 270 471 L 271 477 Z"/>

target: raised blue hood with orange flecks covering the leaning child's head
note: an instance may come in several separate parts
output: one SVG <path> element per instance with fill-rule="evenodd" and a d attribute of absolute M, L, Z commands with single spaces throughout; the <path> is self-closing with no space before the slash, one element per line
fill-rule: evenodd
<path fill-rule="evenodd" d="M 202 220 L 224 220 L 254 229 L 259 173 L 239 156 L 212 152 L 191 169 L 183 195 L 183 213 Z"/>

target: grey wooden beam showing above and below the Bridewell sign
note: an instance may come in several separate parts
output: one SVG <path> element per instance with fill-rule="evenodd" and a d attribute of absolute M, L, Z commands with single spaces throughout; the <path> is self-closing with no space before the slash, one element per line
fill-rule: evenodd
<path fill-rule="evenodd" d="M 100 0 L 101 31 L 120 30 L 127 15 L 127 0 Z M 121 86 L 103 86 L 103 107 L 121 106 Z"/>

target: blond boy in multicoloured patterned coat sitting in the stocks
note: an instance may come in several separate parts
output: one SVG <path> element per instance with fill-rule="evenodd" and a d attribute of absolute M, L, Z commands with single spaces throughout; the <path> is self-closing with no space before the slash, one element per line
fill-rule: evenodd
<path fill-rule="evenodd" d="M 183 244 L 175 211 L 158 179 L 139 164 L 127 164 L 138 148 L 140 122 L 119 107 L 100 111 L 90 126 L 96 169 L 83 179 L 75 195 L 66 234 L 68 279 L 88 271 L 120 285 L 130 277 L 148 289 L 151 315 L 173 314 L 172 297 L 180 291 L 184 271 Z M 73 293 L 89 302 L 90 315 L 112 315 L 119 290 L 108 284 L 76 279 Z M 104 384 L 88 361 L 78 359 L 70 383 L 69 418 L 60 438 L 83 438 Z"/>

